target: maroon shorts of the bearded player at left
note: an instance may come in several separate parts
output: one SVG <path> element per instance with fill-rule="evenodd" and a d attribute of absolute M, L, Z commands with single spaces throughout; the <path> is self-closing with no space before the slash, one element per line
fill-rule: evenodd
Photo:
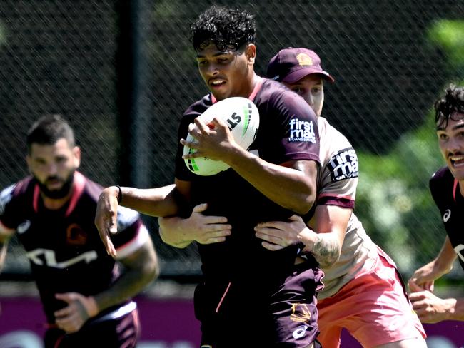
<path fill-rule="evenodd" d="M 121 316 L 104 316 L 86 323 L 79 332 L 66 334 L 61 329 L 47 329 L 45 348 L 135 348 L 140 336 L 138 311 Z"/>

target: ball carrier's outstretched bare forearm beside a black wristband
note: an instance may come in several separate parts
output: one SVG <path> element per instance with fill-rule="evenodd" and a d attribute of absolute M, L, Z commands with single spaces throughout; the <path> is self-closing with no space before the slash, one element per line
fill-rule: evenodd
<path fill-rule="evenodd" d="M 117 188 L 115 189 L 118 195 Z M 175 185 L 147 189 L 121 187 L 121 193 L 120 204 L 140 213 L 151 216 L 168 216 L 178 213 Z"/>

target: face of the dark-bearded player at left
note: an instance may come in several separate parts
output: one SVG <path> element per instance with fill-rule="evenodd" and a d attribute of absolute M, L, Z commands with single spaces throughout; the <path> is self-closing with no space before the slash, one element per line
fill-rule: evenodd
<path fill-rule="evenodd" d="M 26 158 L 31 174 L 49 198 L 63 198 L 69 194 L 71 175 L 79 167 L 80 159 L 79 148 L 71 148 L 64 138 L 54 145 L 31 144 Z"/>

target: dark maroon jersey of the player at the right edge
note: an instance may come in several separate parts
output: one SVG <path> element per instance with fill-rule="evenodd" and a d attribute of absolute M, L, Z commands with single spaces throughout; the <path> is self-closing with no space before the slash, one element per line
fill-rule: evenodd
<path fill-rule="evenodd" d="M 433 174 L 429 184 L 430 193 L 440 210 L 451 245 L 464 270 L 463 215 L 461 215 L 464 212 L 464 197 L 460 192 L 458 180 L 453 177 L 449 168 L 445 167 Z"/>

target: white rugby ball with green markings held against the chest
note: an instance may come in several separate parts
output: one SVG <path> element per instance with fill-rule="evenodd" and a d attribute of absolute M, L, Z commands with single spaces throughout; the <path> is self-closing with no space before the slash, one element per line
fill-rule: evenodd
<path fill-rule="evenodd" d="M 256 138 L 259 128 L 259 113 L 256 105 L 248 98 L 231 97 L 218 101 L 210 106 L 198 118 L 204 123 L 210 123 L 214 117 L 221 118 L 231 130 L 233 139 L 242 148 L 248 150 Z M 187 141 L 195 141 L 188 133 Z M 183 147 L 183 154 L 195 153 L 195 149 Z M 186 166 L 197 175 L 214 175 L 229 168 L 221 160 L 211 160 L 206 157 L 185 160 Z"/>

